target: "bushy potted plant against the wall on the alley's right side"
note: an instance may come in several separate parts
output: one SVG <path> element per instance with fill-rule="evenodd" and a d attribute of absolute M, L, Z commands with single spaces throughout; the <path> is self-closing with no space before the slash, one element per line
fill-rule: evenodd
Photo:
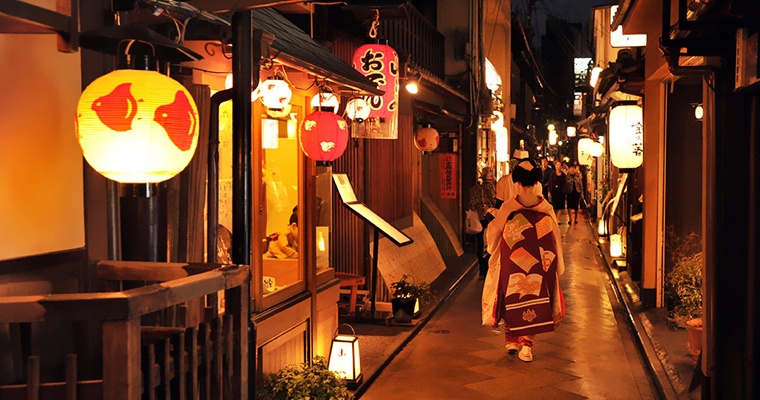
<path fill-rule="evenodd" d="M 670 317 L 689 335 L 689 354 L 696 365 L 702 350 L 702 253 L 675 259 L 665 275 Z"/>

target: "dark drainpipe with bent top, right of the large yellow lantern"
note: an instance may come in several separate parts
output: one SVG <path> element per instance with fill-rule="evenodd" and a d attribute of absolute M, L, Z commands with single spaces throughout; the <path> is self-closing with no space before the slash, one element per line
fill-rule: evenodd
<path fill-rule="evenodd" d="M 208 135 L 208 217 L 206 262 L 216 263 L 216 243 L 219 226 L 219 106 L 232 100 L 232 89 L 222 90 L 211 96 L 211 117 Z"/>

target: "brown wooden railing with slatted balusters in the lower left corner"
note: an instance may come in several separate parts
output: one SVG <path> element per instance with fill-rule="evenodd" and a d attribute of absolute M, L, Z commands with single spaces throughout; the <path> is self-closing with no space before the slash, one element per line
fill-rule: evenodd
<path fill-rule="evenodd" d="M 78 380 L 77 354 L 69 354 L 61 371 L 47 374 L 65 379 L 41 382 L 45 360 L 30 355 L 25 378 L 0 386 L 0 399 L 248 398 L 249 267 L 102 261 L 96 270 L 99 280 L 119 286 L 157 283 L 114 292 L 0 297 L 0 324 L 95 321 L 101 327 L 102 378 Z M 205 307 L 207 296 L 216 299 L 219 291 L 223 312 Z"/>

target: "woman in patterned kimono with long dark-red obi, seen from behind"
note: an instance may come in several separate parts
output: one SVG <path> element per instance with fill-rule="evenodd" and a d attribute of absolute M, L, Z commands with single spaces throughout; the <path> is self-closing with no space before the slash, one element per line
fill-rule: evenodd
<path fill-rule="evenodd" d="M 565 315 L 559 276 L 565 271 L 562 236 L 552 206 L 532 188 L 541 169 L 531 159 L 512 172 L 518 195 L 504 202 L 486 229 L 488 250 L 500 263 L 483 286 L 482 323 L 504 321 L 506 348 L 533 361 L 535 335 L 551 332 Z"/>

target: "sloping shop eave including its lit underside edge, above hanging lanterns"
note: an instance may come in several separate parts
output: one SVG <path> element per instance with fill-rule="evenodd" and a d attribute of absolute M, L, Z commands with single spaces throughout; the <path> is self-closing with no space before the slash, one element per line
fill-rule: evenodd
<path fill-rule="evenodd" d="M 274 35 L 269 56 L 277 62 L 333 82 L 346 92 L 380 96 L 377 85 L 331 53 L 272 8 L 251 10 L 254 29 Z"/>

